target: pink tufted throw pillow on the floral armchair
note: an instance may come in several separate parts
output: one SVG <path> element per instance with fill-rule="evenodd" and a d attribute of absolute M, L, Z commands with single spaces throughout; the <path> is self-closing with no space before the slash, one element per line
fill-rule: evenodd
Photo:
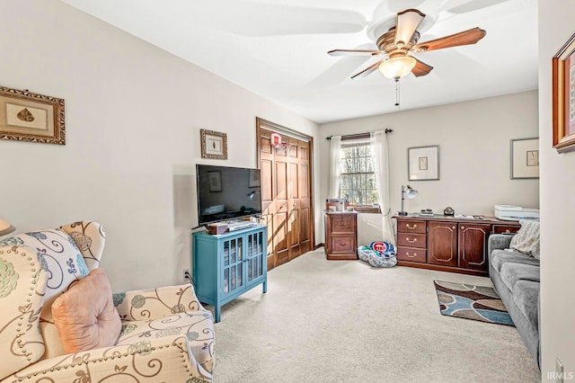
<path fill-rule="evenodd" d="M 102 269 L 94 269 L 60 295 L 52 304 L 52 315 L 66 353 L 113 346 L 121 330 Z"/>

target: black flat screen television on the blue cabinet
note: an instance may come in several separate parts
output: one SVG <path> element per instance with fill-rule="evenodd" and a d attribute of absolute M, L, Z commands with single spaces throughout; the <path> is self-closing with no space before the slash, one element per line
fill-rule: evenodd
<path fill-rule="evenodd" d="M 260 169 L 196 165 L 198 225 L 261 215 Z"/>

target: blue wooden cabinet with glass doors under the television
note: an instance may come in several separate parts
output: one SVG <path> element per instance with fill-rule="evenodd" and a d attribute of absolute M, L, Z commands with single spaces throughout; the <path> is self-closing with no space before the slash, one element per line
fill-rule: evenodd
<path fill-rule="evenodd" d="M 259 284 L 267 291 L 267 240 L 265 225 L 215 236 L 192 234 L 194 289 L 201 302 L 215 307 L 216 322 L 221 307 L 245 291 Z"/>

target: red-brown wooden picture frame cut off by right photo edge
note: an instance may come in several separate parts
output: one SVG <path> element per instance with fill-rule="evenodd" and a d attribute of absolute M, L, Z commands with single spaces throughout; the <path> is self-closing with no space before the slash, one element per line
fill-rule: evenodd
<path fill-rule="evenodd" d="M 575 150 L 575 34 L 553 56 L 553 147 Z"/>

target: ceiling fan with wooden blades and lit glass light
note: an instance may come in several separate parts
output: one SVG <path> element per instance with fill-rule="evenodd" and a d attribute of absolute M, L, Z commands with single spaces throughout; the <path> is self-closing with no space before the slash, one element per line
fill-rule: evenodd
<path fill-rule="evenodd" d="M 475 44 L 482 40 L 486 31 L 479 27 L 445 36 L 435 40 L 419 42 L 418 27 L 425 18 L 425 13 L 417 9 L 407 9 L 397 13 L 395 25 L 376 40 L 378 49 L 333 49 L 327 52 L 331 56 L 371 55 L 387 57 L 351 76 L 365 77 L 376 69 L 384 76 L 398 81 L 410 72 L 419 77 L 426 76 L 433 67 L 415 58 L 412 54 L 429 50 L 458 47 Z"/>

